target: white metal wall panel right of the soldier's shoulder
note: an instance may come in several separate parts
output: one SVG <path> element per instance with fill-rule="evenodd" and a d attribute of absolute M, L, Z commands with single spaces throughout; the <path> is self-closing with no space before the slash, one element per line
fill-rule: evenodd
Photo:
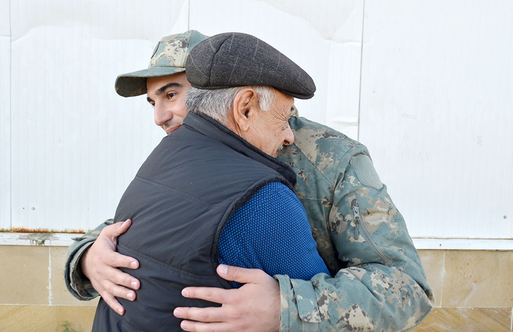
<path fill-rule="evenodd" d="M 360 140 L 422 237 L 511 238 L 513 3 L 366 2 Z"/>

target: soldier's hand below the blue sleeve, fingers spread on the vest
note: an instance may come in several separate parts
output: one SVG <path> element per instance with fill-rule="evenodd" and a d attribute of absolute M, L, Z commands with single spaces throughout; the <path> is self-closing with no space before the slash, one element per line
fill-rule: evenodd
<path fill-rule="evenodd" d="M 258 331 L 280 330 L 280 286 L 272 276 L 259 269 L 218 266 L 218 274 L 228 281 L 243 283 L 239 289 L 186 287 L 186 298 L 221 303 L 221 307 L 176 308 L 173 315 L 185 318 L 180 327 L 186 331 Z"/>

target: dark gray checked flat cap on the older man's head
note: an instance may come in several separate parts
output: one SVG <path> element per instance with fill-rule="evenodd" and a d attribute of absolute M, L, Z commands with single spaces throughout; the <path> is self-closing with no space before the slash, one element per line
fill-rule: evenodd
<path fill-rule="evenodd" d="M 306 71 L 246 33 L 211 36 L 190 51 L 185 68 L 189 83 L 200 89 L 266 85 L 299 99 L 310 99 L 315 92 Z"/>

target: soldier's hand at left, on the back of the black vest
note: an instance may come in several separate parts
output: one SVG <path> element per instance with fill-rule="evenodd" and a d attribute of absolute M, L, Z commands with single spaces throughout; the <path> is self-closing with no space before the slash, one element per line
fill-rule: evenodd
<path fill-rule="evenodd" d="M 136 269 L 139 262 L 132 257 L 117 253 L 117 237 L 125 233 L 132 225 L 132 220 L 106 226 L 98 238 L 80 259 L 82 272 L 91 281 L 92 286 L 114 311 L 123 315 L 125 308 L 115 297 L 130 301 L 135 300 L 135 292 L 139 289 L 139 280 L 127 274 L 118 267 Z M 123 287 L 124 286 L 124 287 Z"/>

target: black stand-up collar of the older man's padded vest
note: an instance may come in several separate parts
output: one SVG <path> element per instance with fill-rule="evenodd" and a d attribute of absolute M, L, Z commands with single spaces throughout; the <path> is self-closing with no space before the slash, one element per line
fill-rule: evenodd
<path fill-rule="evenodd" d="M 295 185 L 296 176 L 289 165 L 264 153 L 211 117 L 202 113 L 189 112 L 183 125 L 229 146 L 232 150 L 248 158 L 263 163 L 280 173 L 292 186 Z"/>

